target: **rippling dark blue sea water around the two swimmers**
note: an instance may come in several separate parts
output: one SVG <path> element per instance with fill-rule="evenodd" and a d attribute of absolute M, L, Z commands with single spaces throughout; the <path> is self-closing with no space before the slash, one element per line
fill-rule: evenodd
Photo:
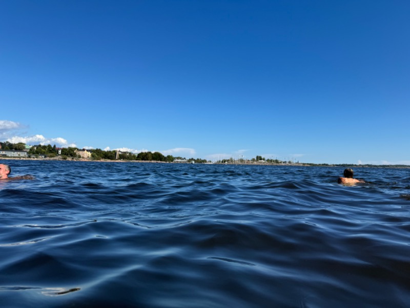
<path fill-rule="evenodd" d="M 410 169 L 6 163 L 1 307 L 410 305 Z"/>

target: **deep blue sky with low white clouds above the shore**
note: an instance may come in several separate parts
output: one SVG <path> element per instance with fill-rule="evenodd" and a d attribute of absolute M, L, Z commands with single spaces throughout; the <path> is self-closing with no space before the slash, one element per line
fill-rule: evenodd
<path fill-rule="evenodd" d="M 410 165 L 410 1 L 0 2 L 0 141 Z"/>

